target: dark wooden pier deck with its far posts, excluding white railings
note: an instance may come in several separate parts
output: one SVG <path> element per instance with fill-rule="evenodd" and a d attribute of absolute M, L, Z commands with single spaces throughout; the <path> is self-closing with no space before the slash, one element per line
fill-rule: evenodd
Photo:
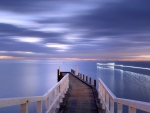
<path fill-rule="evenodd" d="M 96 82 L 94 80 L 93 86 L 91 78 L 88 76 L 84 78 L 84 75 L 74 73 L 74 70 L 70 72 L 59 72 L 58 80 L 61 80 L 67 73 L 69 73 L 69 86 L 70 90 L 68 97 L 63 99 L 64 102 L 60 104 L 60 108 L 57 109 L 57 113 L 104 113 L 98 99 L 98 93 L 96 90 Z M 85 79 L 85 80 L 84 80 Z"/>

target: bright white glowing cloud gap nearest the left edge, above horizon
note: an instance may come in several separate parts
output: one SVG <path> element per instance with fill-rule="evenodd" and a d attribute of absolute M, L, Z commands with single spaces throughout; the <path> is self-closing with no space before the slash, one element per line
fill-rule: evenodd
<path fill-rule="evenodd" d="M 39 43 L 43 41 L 42 38 L 36 38 L 36 37 L 15 37 L 13 39 L 19 42 L 27 42 L 27 43 Z"/>

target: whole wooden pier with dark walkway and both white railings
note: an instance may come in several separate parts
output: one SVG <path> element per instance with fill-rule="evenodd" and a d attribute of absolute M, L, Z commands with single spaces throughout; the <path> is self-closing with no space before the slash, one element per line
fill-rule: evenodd
<path fill-rule="evenodd" d="M 59 68 L 58 83 L 44 95 L 3 98 L 0 108 L 19 105 L 20 113 L 28 113 L 29 103 L 34 102 L 36 113 L 123 113 L 124 106 L 128 107 L 127 113 L 150 113 L 150 103 L 118 98 L 100 78 L 97 82 L 78 73 L 78 68 L 71 72 L 60 72 Z"/>

